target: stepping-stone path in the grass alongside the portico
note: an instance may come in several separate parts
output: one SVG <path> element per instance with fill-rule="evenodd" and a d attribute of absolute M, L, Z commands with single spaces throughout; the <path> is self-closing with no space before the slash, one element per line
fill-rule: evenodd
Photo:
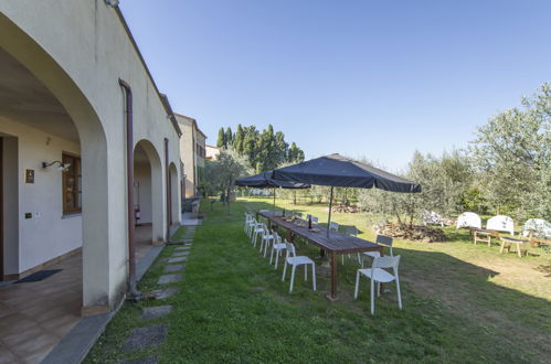
<path fill-rule="evenodd" d="M 158 285 L 169 285 L 176 283 L 183 279 L 183 270 L 186 265 L 183 261 L 188 260 L 188 256 L 191 253 L 191 246 L 193 244 L 193 236 L 195 234 L 195 226 L 186 226 L 186 232 L 183 234 L 182 246 L 174 248 L 172 255 L 166 259 L 163 275 L 161 275 L 157 281 Z M 172 244 L 179 244 L 180 242 L 172 242 Z M 155 300 L 165 300 L 178 292 L 178 288 L 169 287 L 152 290 L 146 295 L 146 297 L 153 298 Z M 147 307 L 141 310 L 141 320 L 150 321 L 162 318 L 172 312 L 172 306 L 153 306 Z M 168 324 L 153 324 L 148 326 L 135 328 L 130 335 L 128 336 L 125 345 L 123 346 L 124 352 L 140 351 L 146 347 L 155 347 L 161 345 L 168 333 Z M 135 361 L 127 361 L 127 364 L 156 364 L 159 357 L 148 356 Z"/>

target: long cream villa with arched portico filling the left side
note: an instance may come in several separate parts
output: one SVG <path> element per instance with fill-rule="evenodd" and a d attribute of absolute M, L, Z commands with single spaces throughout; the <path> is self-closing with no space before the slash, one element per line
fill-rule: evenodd
<path fill-rule="evenodd" d="M 181 221 L 182 157 L 197 157 L 197 185 L 204 136 L 192 135 L 202 157 L 181 154 L 179 122 L 113 3 L 0 1 L 0 352 L 13 356 L 0 361 L 43 357 L 82 314 L 116 308 L 134 251 Z M 61 271 L 47 287 L 6 288 L 49 267 Z"/>

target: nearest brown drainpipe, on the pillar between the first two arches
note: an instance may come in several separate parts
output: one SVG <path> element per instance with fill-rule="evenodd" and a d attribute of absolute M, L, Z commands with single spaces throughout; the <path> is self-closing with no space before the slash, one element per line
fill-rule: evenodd
<path fill-rule="evenodd" d="M 128 222 L 128 290 L 130 298 L 139 299 L 141 293 L 136 289 L 136 246 L 135 246 L 135 216 L 134 216 L 134 121 L 133 121 L 133 90 L 123 79 L 118 79 L 126 95 L 126 189 L 127 189 L 127 222 Z"/>

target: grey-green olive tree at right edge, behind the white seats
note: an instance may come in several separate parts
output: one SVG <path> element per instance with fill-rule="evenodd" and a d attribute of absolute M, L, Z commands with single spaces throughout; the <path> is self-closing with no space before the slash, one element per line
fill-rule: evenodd
<path fill-rule="evenodd" d="M 495 213 L 551 217 L 551 83 L 477 130 L 470 146 Z"/>

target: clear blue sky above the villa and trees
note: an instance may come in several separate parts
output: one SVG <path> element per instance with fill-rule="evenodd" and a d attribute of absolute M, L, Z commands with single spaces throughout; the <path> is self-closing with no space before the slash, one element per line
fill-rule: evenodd
<path fill-rule="evenodd" d="M 465 148 L 477 126 L 551 81 L 551 1 L 123 0 L 172 108 L 216 142 L 283 130 L 307 158 L 398 171 Z"/>

